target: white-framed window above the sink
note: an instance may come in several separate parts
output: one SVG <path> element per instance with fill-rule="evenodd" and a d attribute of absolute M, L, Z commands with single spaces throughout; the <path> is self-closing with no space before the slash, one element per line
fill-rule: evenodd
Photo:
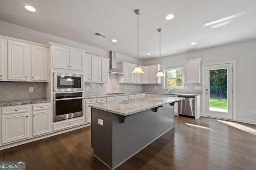
<path fill-rule="evenodd" d="M 163 88 L 184 89 L 183 67 L 164 70 Z"/>

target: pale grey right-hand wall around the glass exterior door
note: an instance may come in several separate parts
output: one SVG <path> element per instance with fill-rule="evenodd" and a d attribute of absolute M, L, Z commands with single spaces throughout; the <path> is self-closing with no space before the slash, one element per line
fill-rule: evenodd
<path fill-rule="evenodd" d="M 202 59 L 202 64 L 236 60 L 236 121 L 256 124 L 256 115 L 252 115 L 256 110 L 256 39 L 162 57 L 161 64 L 162 68 L 182 66 L 183 60 L 197 58 Z M 144 65 L 157 63 L 159 59 L 143 61 Z"/>

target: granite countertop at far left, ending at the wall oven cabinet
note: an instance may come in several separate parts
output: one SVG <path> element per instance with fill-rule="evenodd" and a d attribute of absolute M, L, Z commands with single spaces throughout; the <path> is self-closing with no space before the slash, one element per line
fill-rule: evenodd
<path fill-rule="evenodd" d="M 51 102 L 51 100 L 48 100 L 48 99 L 33 99 L 33 100 L 6 101 L 6 102 L 0 102 L 0 107 L 3 107 L 3 106 L 17 106 L 17 105 L 24 105 L 24 104 L 48 103 L 48 102 Z"/>

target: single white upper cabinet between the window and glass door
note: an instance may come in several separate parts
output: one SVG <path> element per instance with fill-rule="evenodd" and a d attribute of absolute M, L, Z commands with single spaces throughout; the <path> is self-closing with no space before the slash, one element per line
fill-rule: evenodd
<path fill-rule="evenodd" d="M 200 83 L 201 82 L 201 60 L 186 60 L 185 63 L 185 82 Z"/>

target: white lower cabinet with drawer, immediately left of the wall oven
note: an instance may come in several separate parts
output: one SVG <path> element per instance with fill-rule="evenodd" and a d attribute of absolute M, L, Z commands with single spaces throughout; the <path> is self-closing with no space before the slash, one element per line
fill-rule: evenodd
<path fill-rule="evenodd" d="M 50 133 L 50 105 L 33 105 L 33 136 Z"/>

